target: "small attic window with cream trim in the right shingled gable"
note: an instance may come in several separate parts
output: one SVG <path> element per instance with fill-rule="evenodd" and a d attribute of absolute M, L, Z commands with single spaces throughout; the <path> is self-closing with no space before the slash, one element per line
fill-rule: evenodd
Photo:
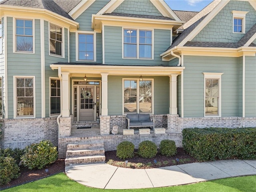
<path fill-rule="evenodd" d="M 232 11 L 233 33 L 245 33 L 245 16 L 248 11 Z"/>

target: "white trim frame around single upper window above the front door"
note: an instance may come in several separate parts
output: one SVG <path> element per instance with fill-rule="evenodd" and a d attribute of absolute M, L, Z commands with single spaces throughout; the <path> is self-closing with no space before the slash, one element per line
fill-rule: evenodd
<path fill-rule="evenodd" d="M 93 60 L 79 60 L 78 52 L 79 52 L 79 42 L 78 42 L 78 34 L 93 34 L 93 52 L 94 52 L 94 58 Z M 96 62 L 96 32 L 94 31 L 76 31 L 76 61 L 82 61 L 82 62 Z"/>

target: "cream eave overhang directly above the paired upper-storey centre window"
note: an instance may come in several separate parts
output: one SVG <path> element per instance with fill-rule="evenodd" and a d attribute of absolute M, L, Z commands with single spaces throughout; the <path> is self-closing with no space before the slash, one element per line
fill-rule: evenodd
<path fill-rule="evenodd" d="M 102 25 L 108 26 L 131 26 L 131 27 L 145 27 L 154 29 L 168 29 L 176 30 L 184 22 L 175 20 L 161 20 L 149 18 L 134 18 L 124 16 L 110 16 L 110 15 L 92 15 L 92 29 L 96 32 L 101 32 Z"/>

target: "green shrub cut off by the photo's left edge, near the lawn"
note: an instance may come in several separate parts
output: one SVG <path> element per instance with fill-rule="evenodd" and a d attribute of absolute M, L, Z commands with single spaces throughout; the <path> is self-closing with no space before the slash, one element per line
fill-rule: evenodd
<path fill-rule="evenodd" d="M 12 157 L 0 157 L 0 183 L 5 185 L 20 176 L 20 168 Z"/>

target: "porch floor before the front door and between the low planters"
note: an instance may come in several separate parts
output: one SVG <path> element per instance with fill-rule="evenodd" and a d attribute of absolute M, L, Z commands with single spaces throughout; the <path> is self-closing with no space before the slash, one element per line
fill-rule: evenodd
<path fill-rule="evenodd" d="M 167 129 L 166 129 L 167 133 Z M 123 129 L 118 129 L 118 135 L 123 134 Z M 139 134 L 139 129 L 134 129 L 134 134 Z M 153 130 L 150 130 L 150 134 L 154 134 Z M 72 137 L 83 137 L 83 136 L 97 136 L 100 135 L 100 126 L 92 126 L 92 128 L 88 129 L 77 129 L 76 127 L 71 128 L 71 136 Z"/>

